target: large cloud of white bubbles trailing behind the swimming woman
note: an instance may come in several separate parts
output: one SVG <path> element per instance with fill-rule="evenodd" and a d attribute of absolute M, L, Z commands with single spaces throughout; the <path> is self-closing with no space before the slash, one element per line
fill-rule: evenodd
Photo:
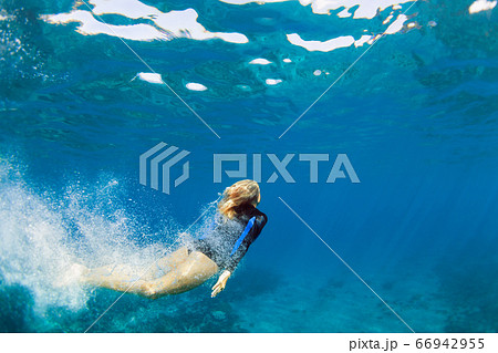
<path fill-rule="evenodd" d="M 74 263 L 86 267 L 127 263 L 146 268 L 164 253 L 162 239 L 137 245 L 149 230 L 121 207 L 118 183 L 106 179 L 89 188 L 77 183 L 54 199 L 38 194 L 7 163 L 0 164 L 0 278 L 3 285 L 22 285 L 44 312 L 85 307 L 89 289 L 69 277 Z M 162 235 L 176 231 L 164 229 Z M 65 282 L 65 285 L 63 282 Z M 62 284 L 61 284 L 62 283 Z"/>

